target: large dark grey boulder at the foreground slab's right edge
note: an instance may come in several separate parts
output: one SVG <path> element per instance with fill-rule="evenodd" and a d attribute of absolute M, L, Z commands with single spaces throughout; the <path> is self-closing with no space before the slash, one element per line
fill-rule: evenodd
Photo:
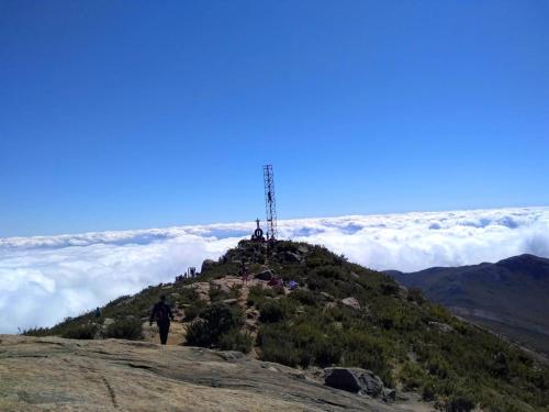
<path fill-rule="evenodd" d="M 324 383 L 352 393 L 377 398 L 383 392 L 382 380 L 370 370 L 361 368 L 326 368 Z"/>

